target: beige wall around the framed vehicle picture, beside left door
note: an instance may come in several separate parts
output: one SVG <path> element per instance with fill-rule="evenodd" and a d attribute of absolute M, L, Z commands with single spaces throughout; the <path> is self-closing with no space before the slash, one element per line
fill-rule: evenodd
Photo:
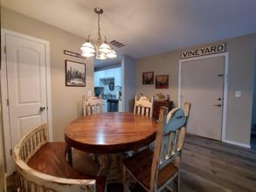
<path fill-rule="evenodd" d="M 80 46 L 86 39 L 3 7 L 1 27 L 50 42 L 53 141 L 64 141 L 66 125 L 82 115 L 81 95 L 87 95 L 88 91 L 93 93 L 94 87 L 93 58 L 74 58 L 63 51 L 80 53 Z M 86 87 L 65 85 L 66 59 L 86 64 Z"/>

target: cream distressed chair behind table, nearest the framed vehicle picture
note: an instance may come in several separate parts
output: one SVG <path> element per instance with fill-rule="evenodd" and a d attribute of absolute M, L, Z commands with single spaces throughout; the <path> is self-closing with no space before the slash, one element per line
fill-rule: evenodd
<path fill-rule="evenodd" d="M 82 95 L 82 104 L 83 104 L 83 114 L 91 115 L 95 113 L 102 113 L 102 99 L 101 94 L 100 98 L 97 97 L 89 97 L 86 99 L 85 95 Z"/>

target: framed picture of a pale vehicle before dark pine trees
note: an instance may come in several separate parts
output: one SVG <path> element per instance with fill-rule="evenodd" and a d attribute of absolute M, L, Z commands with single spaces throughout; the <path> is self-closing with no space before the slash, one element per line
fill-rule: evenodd
<path fill-rule="evenodd" d="M 66 86 L 86 86 L 86 64 L 66 60 Z"/>

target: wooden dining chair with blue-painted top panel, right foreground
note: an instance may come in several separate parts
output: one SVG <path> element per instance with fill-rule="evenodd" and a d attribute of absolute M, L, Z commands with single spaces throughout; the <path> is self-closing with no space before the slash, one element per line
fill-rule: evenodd
<path fill-rule="evenodd" d="M 123 161 L 124 191 L 128 191 L 127 172 L 146 191 L 161 191 L 169 188 L 174 181 L 174 189 L 179 191 L 180 161 L 186 133 L 186 120 L 190 113 L 190 103 L 185 110 L 160 108 L 154 152 L 149 148 L 138 152 Z M 185 111 L 185 113 L 184 113 Z"/>

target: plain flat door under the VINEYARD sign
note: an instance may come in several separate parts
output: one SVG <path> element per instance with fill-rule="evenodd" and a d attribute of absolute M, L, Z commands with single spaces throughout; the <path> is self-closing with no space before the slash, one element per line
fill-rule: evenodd
<path fill-rule="evenodd" d="M 224 64 L 224 56 L 182 62 L 181 105 L 191 102 L 188 133 L 221 141 Z"/>

